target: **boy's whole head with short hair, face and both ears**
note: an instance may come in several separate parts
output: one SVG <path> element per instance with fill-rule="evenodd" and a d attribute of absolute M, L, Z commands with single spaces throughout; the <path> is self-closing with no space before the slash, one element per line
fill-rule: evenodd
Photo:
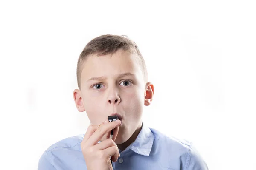
<path fill-rule="evenodd" d="M 117 35 L 102 35 L 86 45 L 77 63 L 77 83 L 76 107 L 86 111 L 92 125 L 111 114 L 121 117 L 116 144 L 141 127 L 143 105 L 150 105 L 154 94 L 137 45 Z"/>

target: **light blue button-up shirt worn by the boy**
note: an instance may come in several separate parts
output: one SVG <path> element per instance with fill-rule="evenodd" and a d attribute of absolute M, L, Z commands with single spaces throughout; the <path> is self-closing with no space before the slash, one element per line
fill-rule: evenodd
<path fill-rule="evenodd" d="M 80 145 L 83 138 L 79 135 L 53 144 L 41 156 L 38 170 L 87 170 Z M 208 170 L 190 142 L 166 136 L 145 123 L 136 140 L 119 152 L 113 170 Z"/>

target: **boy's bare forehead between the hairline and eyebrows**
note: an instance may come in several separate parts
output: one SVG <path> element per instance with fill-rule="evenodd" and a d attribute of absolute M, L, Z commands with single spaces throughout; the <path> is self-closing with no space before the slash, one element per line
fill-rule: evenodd
<path fill-rule="evenodd" d="M 86 81 L 91 77 L 115 77 L 128 72 L 143 79 L 137 57 L 136 54 L 123 50 L 105 56 L 90 55 L 83 63 L 81 81 Z"/>

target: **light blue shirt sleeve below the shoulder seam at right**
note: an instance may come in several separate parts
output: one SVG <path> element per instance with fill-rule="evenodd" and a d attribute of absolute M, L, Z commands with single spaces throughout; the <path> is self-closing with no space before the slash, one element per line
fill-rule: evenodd
<path fill-rule="evenodd" d="M 189 147 L 184 170 L 208 170 L 207 164 L 193 146 Z"/>

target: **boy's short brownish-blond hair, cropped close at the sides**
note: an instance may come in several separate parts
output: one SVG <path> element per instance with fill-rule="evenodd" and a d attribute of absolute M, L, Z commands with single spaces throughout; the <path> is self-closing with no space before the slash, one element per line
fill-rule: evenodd
<path fill-rule="evenodd" d="M 141 70 L 144 74 L 144 80 L 147 81 L 148 73 L 145 61 L 141 55 L 138 46 L 135 42 L 130 40 L 127 36 L 119 35 L 101 35 L 91 40 L 81 52 L 76 68 L 77 85 L 81 89 L 81 72 L 84 61 L 87 56 L 97 54 L 97 56 L 103 56 L 108 54 L 114 54 L 117 50 L 122 49 L 129 51 L 131 54 L 137 54 L 137 62 L 139 63 Z"/>

